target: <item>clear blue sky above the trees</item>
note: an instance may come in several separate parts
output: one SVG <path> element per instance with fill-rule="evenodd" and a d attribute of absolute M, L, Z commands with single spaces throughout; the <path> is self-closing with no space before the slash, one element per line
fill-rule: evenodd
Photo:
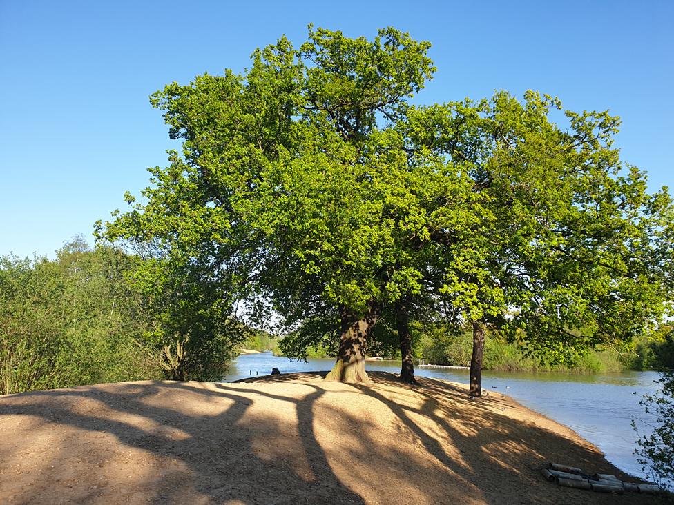
<path fill-rule="evenodd" d="M 0 0 L 0 255 L 53 257 L 138 195 L 172 147 L 148 95 L 243 70 L 307 23 L 432 42 L 432 103 L 535 89 L 623 119 L 622 158 L 674 186 L 674 2 Z M 176 146 L 173 146 L 176 147 Z"/>

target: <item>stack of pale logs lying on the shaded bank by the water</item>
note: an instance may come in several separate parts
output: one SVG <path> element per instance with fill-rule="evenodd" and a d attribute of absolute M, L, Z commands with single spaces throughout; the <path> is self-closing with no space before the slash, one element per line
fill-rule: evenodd
<path fill-rule="evenodd" d="M 550 482 L 557 482 L 559 486 L 568 488 L 587 489 L 597 493 L 617 493 L 622 495 L 625 491 L 631 493 L 662 493 L 662 488 L 655 484 L 640 484 L 634 482 L 624 482 L 615 475 L 606 473 L 595 473 L 588 475 L 575 466 L 561 465 L 557 463 L 548 464 L 548 468 L 541 470 L 546 479 Z"/>

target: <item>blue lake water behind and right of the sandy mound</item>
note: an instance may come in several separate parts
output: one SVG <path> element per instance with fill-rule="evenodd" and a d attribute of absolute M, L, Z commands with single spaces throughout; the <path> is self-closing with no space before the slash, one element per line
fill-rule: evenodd
<path fill-rule="evenodd" d="M 333 363 L 334 359 L 298 362 L 271 353 L 240 355 L 231 364 L 225 380 L 267 375 L 275 367 L 281 373 L 329 370 Z M 367 362 L 365 368 L 400 373 L 401 363 Z M 468 370 L 416 368 L 415 373 L 422 377 L 468 383 Z M 524 406 L 569 426 L 599 447 L 606 454 L 606 459 L 622 471 L 644 477 L 633 454 L 637 435 L 631 423 L 633 420 L 637 423 L 639 433 L 647 433 L 648 424 L 654 424 L 655 417 L 644 413 L 639 399 L 657 390 L 654 381 L 658 377 L 655 372 L 570 375 L 485 371 L 482 386 L 485 391 L 495 390 L 510 395 Z"/>

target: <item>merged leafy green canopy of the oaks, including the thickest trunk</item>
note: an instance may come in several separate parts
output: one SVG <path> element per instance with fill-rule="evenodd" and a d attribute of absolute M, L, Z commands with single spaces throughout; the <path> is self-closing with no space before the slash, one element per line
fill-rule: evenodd
<path fill-rule="evenodd" d="M 305 325 L 296 335 L 337 330 L 329 379 L 367 380 L 382 315 L 407 380 L 410 318 L 502 328 L 555 359 L 657 321 L 672 206 L 625 175 L 619 120 L 564 111 L 561 127 L 560 101 L 537 92 L 412 106 L 429 48 L 394 28 L 369 41 L 309 26 L 242 75 L 169 84 L 151 100 L 182 152 L 99 233 L 198 273 L 228 317 L 246 300 Z"/>

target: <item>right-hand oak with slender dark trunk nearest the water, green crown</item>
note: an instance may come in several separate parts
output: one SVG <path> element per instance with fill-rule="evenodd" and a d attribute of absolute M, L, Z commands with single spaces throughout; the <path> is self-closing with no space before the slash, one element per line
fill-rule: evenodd
<path fill-rule="evenodd" d="M 410 148 L 468 169 L 483 195 L 473 237 L 435 223 L 441 293 L 474 334 L 470 391 L 481 395 L 485 328 L 548 361 L 598 344 L 623 346 L 651 330 L 672 300 L 672 206 L 646 192 L 643 172 L 613 148 L 619 119 L 564 111 L 552 97 L 507 92 L 408 111 Z M 466 221 L 468 222 L 468 221 Z M 506 317 L 508 313 L 512 315 Z"/>

